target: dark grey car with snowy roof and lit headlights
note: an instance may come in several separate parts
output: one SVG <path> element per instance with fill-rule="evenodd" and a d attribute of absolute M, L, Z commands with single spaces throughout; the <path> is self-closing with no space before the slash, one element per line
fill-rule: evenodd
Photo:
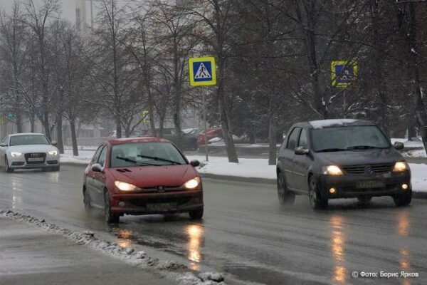
<path fill-rule="evenodd" d="M 328 199 L 391 196 L 396 206 L 406 206 L 412 190 L 403 148 L 367 120 L 296 123 L 278 155 L 279 201 L 292 204 L 295 194 L 305 194 L 312 208 L 323 209 Z"/>

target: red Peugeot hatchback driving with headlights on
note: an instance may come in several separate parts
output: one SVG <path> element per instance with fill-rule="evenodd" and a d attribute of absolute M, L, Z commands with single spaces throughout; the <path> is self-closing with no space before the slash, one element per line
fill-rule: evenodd
<path fill-rule="evenodd" d="M 203 216 L 203 186 L 178 148 L 162 138 L 112 139 L 98 147 L 86 167 L 85 209 L 105 209 L 107 222 L 124 214 L 188 212 Z"/>

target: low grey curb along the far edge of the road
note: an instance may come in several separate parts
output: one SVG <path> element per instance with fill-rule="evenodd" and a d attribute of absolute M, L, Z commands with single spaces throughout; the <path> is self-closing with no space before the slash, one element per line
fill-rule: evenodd
<path fill-rule="evenodd" d="M 71 166 L 80 166 L 86 167 L 82 163 L 75 162 L 60 162 L 61 165 L 71 165 Z M 267 184 L 267 185 L 276 185 L 275 179 L 269 178 L 258 178 L 258 177 L 241 177 L 241 176 L 231 176 L 231 175 L 216 175 L 211 173 L 200 173 L 202 178 L 209 178 L 214 180 L 225 180 L 233 182 L 248 182 L 248 183 L 257 183 L 257 184 Z M 412 190 L 413 199 L 427 199 L 427 192 L 419 192 Z"/>

